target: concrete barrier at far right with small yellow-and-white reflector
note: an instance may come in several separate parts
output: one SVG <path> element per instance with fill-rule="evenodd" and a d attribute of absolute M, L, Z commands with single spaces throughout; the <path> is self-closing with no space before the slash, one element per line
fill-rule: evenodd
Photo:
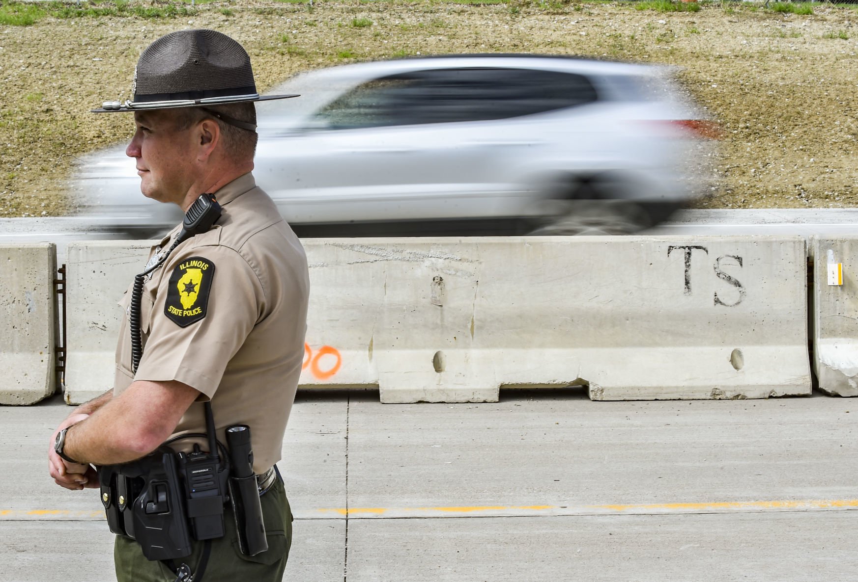
<path fill-rule="evenodd" d="M 819 389 L 858 396 L 858 237 L 813 237 L 813 369 Z"/>

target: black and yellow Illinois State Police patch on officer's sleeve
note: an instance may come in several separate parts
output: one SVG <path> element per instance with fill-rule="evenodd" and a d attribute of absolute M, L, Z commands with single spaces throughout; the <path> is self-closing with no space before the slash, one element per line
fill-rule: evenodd
<path fill-rule="evenodd" d="M 206 316 L 208 291 L 212 288 L 215 263 L 192 256 L 178 263 L 170 275 L 164 315 L 178 327 L 188 327 Z"/>

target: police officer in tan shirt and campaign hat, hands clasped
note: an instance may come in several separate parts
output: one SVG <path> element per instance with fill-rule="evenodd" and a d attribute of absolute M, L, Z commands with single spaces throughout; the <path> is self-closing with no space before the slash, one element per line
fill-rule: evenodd
<path fill-rule="evenodd" d="M 66 489 L 99 487 L 91 465 L 140 459 L 176 435 L 204 433 L 210 401 L 216 435 L 251 428 L 253 471 L 268 549 L 242 554 L 232 510 L 226 535 L 193 542 L 184 562 L 195 582 L 281 580 L 292 541 L 292 514 L 275 463 L 304 357 L 309 280 L 304 250 L 275 204 L 254 182 L 255 101 L 250 57 L 211 30 L 157 39 L 137 63 L 134 99 L 97 112 L 131 111 L 136 132 L 126 153 L 136 161 L 143 195 L 187 212 L 214 194 L 221 217 L 210 230 L 172 247 L 178 225 L 152 250 L 139 309 L 142 357 L 131 363 L 130 303 L 116 353 L 115 384 L 57 428 L 50 474 Z M 166 259 L 165 259 L 166 255 Z M 190 441 L 175 448 L 190 450 Z M 120 581 L 182 579 L 174 564 L 148 561 L 140 544 L 118 536 Z M 188 579 L 187 577 L 185 579 Z"/>

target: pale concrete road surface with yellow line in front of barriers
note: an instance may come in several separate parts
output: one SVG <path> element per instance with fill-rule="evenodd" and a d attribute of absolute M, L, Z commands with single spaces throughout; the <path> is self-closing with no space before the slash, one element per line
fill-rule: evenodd
<path fill-rule="evenodd" d="M 112 580 L 97 494 L 46 474 L 60 399 L 0 407 L 0 580 Z M 299 393 L 287 580 L 858 580 L 858 401 L 381 405 Z M 208 576 L 207 576 L 208 579 Z"/>

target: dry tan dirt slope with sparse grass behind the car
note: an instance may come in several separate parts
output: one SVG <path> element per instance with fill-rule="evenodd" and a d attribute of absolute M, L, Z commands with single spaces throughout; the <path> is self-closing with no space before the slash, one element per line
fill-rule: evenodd
<path fill-rule="evenodd" d="M 354 19 L 372 24 L 356 27 Z M 190 27 L 245 45 L 262 90 L 304 69 L 411 54 L 538 52 L 679 65 L 680 80 L 723 129 L 720 186 L 702 207 L 851 207 L 856 24 L 858 12 L 833 6 L 795 15 L 717 4 L 665 13 L 622 3 L 260 0 L 206 3 L 183 16 L 0 25 L 0 217 L 69 212 L 65 183 L 76 159 L 130 135 L 130 116 L 88 110 L 129 99 L 140 52 Z"/>

